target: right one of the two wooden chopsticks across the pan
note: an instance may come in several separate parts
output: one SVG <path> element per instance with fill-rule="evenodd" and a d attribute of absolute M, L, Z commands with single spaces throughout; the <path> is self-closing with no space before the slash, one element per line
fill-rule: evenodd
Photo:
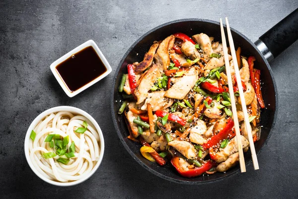
<path fill-rule="evenodd" d="M 245 122 L 245 128 L 246 128 L 247 135 L 248 135 L 248 141 L 249 141 L 249 146 L 250 146 L 250 151 L 251 151 L 253 167 L 255 170 L 258 170 L 259 169 L 258 159 L 257 159 L 257 155 L 256 155 L 256 150 L 254 148 L 254 143 L 253 143 L 253 138 L 252 138 L 252 133 L 251 133 L 251 126 L 249 124 L 249 118 L 248 118 L 247 108 L 246 108 L 246 104 L 245 104 L 243 88 L 242 88 L 242 84 L 241 84 L 241 78 L 240 78 L 236 53 L 235 53 L 234 42 L 233 42 L 233 38 L 232 38 L 232 34 L 231 34 L 231 30 L 230 30 L 230 27 L 228 24 L 227 17 L 225 17 L 225 23 L 226 23 L 228 42 L 229 42 L 229 46 L 230 46 L 230 50 L 231 50 L 231 55 L 233 58 L 233 63 L 234 63 L 234 70 L 235 70 L 235 76 L 236 76 L 236 80 L 237 80 L 239 96 L 240 96 L 240 100 L 242 101 L 241 106 L 242 106 L 242 110 L 244 113 L 244 122 Z"/>

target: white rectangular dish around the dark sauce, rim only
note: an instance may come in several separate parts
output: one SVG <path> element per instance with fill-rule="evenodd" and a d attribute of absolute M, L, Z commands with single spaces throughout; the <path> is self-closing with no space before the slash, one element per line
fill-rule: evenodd
<path fill-rule="evenodd" d="M 58 71 L 56 70 L 56 66 L 59 65 L 60 63 L 64 62 L 66 59 L 70 58 L 73 54 L 81 51 L 82 49 L 84 49 L 84 48 L 86 48 L 88 46 L 92 46 L 94 48 L 95 52 L 97 53 L 97 55 L 101 59 L 102 63 L 107 68 L 107 71 L 105 73 L 103 73 L 102 75 L 100 75 L 99 77 L 97 77 L 96 79 L 94 79 L 91 82 L 89 82 L 88 84 L 86 84 L 83 87 L 79 88 L 78 90 L 76 90 L 74 92 L 71 92 L 69 90 L 69 88 L 66 86 L 66 84 L 63 81 L 62 77 L 59 75 Z M 111 68 L 110 64 L 108 63 L 108 61 L 106 60 L 106 58 L 104 57 L 104 55 L 99 50 L 98 46 L 96 45 L 96 43 L 93 40 L 88 40 L 85 43 L 83 43 L 83 44 L 79 45 L 78 47 L 74 48 L 74 50 L 72 50 L 72 51 L 68 52 L 67 54 L 63 55 L 62 57 L 60 57 L 59 59 L 57 59 L 55 62 L 53 62 L 51 64 L 50 68 L 51 68 L 51 71 L 54 74 L 56 80 L 58 81 L 58 83 L 62 87 L 63 91 L 70 98 L 74 97 L 75 95 L 77 95 L 80 92 L 84 91 L 85 89 L 89 88 L 90 86 L 92 86 L 93 84 L 95 84 L 99 80 L 105 78 L 107 75 L 109 75 L 112 72 L 112 68 Z"/>

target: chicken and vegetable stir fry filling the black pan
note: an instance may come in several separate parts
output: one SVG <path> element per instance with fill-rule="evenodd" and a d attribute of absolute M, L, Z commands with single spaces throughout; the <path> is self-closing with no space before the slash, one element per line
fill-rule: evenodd
<path fill-rule="evenodd" d="M 228 49 L 229 52 L 229 49 Z M 230 54 L 230 52 L 229 52 Z M 245 102 L 239 98 L 230 55 L 233 92 L 244 152 L 249 148 L 241 103 L 249 114 L 254 142 L 260 138 L 260 109 L 265 107 L 255 58 L 236 52 Z M 225 172 L 239 162 L 228 94 L 223 45 L 204 33 L 183 33 L 154 41 L 144 60 L 127 65 L 119 92 L 129 139 L 141 154 L 183 177 Z"/>

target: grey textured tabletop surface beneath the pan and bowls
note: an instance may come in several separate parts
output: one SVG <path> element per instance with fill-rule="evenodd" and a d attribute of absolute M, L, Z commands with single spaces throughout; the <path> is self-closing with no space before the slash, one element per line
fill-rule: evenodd
<path fill-rule="evenodd" d="M 272 61 L 279 92 L 274 133 L 252 165 L 221 183 L 185 186 L 142 168 L 126 152 L 113 127 L 109 98 L 123 54 L 141 35 L 181 18 L 219 20 L 252 41 L 298 7 L 297 0 L 2 0 L 0 1 L 0 197 L 49 198 L 298 198 L 298 42 Z M 60 88 L 50 64 L 93 39 L 113 72 L 74 98 Z M 69 188 L 49 185 L 29 168 L 24 136 L 42 111 L 72 105 L 101 126 L 105 155 L 86 182 Z"/>

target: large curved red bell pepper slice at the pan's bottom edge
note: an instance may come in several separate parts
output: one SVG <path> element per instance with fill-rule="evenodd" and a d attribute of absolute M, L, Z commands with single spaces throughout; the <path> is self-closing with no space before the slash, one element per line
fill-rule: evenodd
<path fill-rule="evenodd" d="M 177 156 L 172 158 L 171 163 L 181 176 L 187 177 L 187 178 L 201 176 L 203 173 L 209 171 L 210 169 L 218 165 L 216 162 L 209 160 L 204 165 L 202 165 L 202 167 L 196 167 L 194 169 L 184 170 L 183 168 L 180 167 L 179 158 Z"/>

